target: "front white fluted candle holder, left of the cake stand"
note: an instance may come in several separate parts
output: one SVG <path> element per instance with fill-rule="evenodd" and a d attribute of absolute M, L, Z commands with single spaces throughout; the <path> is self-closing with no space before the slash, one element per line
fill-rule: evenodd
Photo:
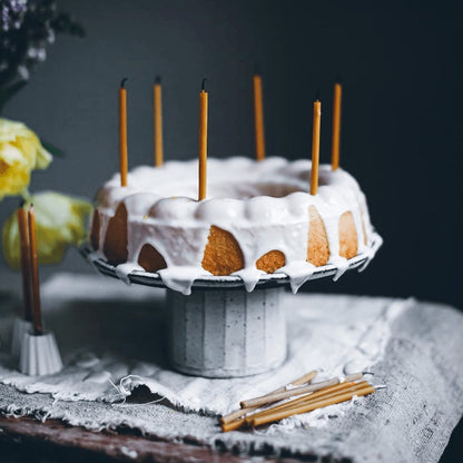
<path fill-rule="evenodd" d="M 26 375 L 51 375 L 62 368 L 61 356 L 52 333 L 26 333 L 19 359 L 19 370 Z"/>

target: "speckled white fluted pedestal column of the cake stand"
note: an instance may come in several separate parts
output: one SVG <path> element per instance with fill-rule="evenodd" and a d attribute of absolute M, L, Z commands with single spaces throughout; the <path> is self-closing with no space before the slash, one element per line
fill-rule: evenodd
<path fill-rule="evenodd" d="M 286 358 L 283 288 L 167 290 L 173 366 L 208 377 L 263 373 Z"/>

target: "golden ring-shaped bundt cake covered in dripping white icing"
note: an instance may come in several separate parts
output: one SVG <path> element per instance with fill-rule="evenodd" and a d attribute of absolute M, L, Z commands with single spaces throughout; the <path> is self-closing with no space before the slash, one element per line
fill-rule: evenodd
<path fill-rule="evenodd" d="M 92 247 L 120 275 L 159 272 L 166 286 L 188 294 L 204 275 L 237 275 L 252 290 L 275 272 L 297 289 L 318 266 L 333 264 L 341 276 L 371 244 L 365 196 L 341 168 L 319 166 L 313 196 L 309 160 L 209 158 L 201 201 L 197 170 L 196 159 L 141 166 L 126 187 L 116 174 L 97 194 Z"/>

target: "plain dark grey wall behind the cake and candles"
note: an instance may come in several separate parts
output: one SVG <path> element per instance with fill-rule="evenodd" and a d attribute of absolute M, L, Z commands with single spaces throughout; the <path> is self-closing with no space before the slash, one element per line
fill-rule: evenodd
<path fill-rule="evenodd" d="M 197 155 L 203 77 L 209 90 L 209 156 L 253 156 L 255 63 L 264 79 L 268 156 L 309 156 L 312 102 L 319 88 L 321 156 L 327 162 L 332 86 L 341 75 L 342 166 L 366 193 L 385 244 L 365 273 L 305 289 L 462 305 L 460 11 L 442 2 L 416 8 L 260 0 L 59 3 L 80 20 L 87 37 L 58 37 L 4 111 L 66 150 L 65 159 L 33 174 L 33 190 L 91 198 L 117 170 L 121 77 L 129 78 L 130 166 L 152 160 L 156 73 L 164 79 L 167 159 Z M 0 204 L 1 220 L 16 204 Z M 75 249 L 58 268 L 88 270 Z M 1 274 L 9 275 L 4 268 Z M 13 282 L 19 285 L 18 275 Z"/>

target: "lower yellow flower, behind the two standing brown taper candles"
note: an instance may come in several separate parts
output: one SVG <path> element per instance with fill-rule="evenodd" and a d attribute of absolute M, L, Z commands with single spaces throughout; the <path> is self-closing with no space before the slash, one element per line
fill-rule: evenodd
<path fill-rule="evenodd" d="M 83 199 L 53 191 L 33 195 L 37 252 L 40 264 L 58 264 L 70 245 L 87 238 L 92 206 Z M 20 267 L 20 244 L 16 211 L 3 225 L 3 254 L 11 268 Z"/>

